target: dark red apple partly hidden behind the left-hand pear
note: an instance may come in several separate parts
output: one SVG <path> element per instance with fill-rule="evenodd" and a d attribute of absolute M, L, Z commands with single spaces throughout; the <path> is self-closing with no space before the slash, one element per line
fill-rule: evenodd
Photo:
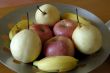
<path fill-rule="evenodd" d="M 42 43 L 53 37 L 53 33 L 48 25 L 33 24 L 30 26 L 30 29 L 34 30 L 40 36 Z"/>

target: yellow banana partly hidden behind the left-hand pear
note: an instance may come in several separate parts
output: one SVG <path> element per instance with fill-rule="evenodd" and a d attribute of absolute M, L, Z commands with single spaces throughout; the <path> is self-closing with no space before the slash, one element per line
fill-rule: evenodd
<path fill-rule="evenodd" d="M 30 21 L 30 25 L 31 24 L 32 24 L 32 21 Z M 10 40 L 14 37 L 14 35 L 16 33 L 18 33 L 19 31 L 21 31 L 22 29 L 25 29 L 25 28 L 27 28 L 27 19 L 23 19 L 23 20 L 17 22 L 17 24 L 15 24 L 9 32 Z"/>

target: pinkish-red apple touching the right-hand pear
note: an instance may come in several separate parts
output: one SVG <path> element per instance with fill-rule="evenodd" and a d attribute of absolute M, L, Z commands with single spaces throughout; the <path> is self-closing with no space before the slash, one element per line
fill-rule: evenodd
<path fill-rule="evenodd" d="M 53 31 L 55 35 L 66 36 L 72 38 L 72 33 L 76 28 L 77 23 L 70 19 L 64 19 L 57 22 L 54 27 Z"/>

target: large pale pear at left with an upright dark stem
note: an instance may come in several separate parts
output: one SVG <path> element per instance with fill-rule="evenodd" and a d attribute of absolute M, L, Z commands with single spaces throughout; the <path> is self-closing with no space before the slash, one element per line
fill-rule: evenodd
<path fill-rule="evenodd" d="M 41 40 L 31 29 L 23 29 L 18 32 L 10 43 L 11 53 L 14 59 L 29 63 L 35 60 L 41 52 Z"/>

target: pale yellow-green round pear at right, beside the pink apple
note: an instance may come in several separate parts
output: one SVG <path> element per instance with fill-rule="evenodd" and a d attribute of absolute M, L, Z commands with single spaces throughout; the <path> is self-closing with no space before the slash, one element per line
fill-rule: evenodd
<path fill-rule="evenodd" d="M 97 52 L 102 46 L 100 30 L 90 24 L 78 25 L 72 34 L 72 40 L 80 52 L 88 55 Z"/>

